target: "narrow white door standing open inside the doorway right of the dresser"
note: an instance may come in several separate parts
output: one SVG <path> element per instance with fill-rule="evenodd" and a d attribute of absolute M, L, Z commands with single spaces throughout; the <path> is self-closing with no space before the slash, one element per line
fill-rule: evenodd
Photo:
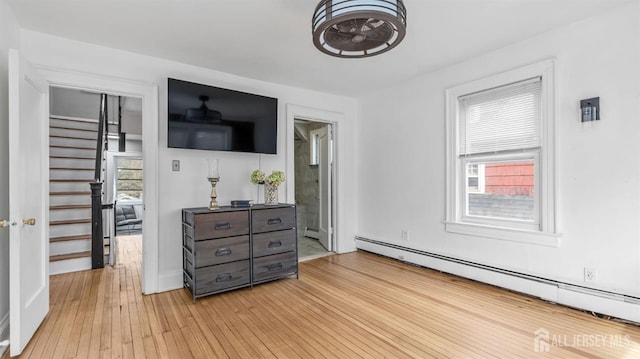
<path fill-rule="evenodd" d="M 328 251 L 333 251 L 332 228 L 331 228 L 331 126 L 327 125 L 312 131 L 318 137 L 318 186 L 320 192 L 320 203 L 318 206 L 318 234 L 320 244 Z"/>

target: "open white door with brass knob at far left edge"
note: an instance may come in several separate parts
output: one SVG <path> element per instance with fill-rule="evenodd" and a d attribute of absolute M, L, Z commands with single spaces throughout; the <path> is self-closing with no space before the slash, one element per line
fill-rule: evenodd
<path fill-rule="evenodd" d="M 22 353 L 49 311 L 49 88 L 9 50 L 9 325 Z"/>

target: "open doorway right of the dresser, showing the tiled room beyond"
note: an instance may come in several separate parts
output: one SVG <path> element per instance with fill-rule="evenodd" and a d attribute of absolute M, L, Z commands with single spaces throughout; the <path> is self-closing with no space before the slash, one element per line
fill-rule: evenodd
<path fill-rule="evenodd" d="M 301 260 L 334 252 L 333 140 L 326 122 L 294 121 L 295 201 Z"/>

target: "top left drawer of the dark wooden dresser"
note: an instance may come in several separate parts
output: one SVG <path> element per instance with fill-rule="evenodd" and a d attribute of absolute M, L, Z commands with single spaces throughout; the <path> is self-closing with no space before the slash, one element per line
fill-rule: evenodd
<path fill-rule="evenodd" d="M 249 234 L 249 211 L 205 213 L 195 216 L 193 239 L 222 238 Z"/>

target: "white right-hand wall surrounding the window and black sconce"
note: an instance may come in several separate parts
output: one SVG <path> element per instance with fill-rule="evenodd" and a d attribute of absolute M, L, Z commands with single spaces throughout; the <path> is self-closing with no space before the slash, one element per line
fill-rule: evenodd
<path fill-rule="evenodd" d="M 640 296 L 639 13 L 633 2 L 363 98 L 358 234 Z M 553 57 L 559 248 L 445 232 L 445 89 Z M 602 120 L 583 126 L 579 100 L 595 96 Z"/>

